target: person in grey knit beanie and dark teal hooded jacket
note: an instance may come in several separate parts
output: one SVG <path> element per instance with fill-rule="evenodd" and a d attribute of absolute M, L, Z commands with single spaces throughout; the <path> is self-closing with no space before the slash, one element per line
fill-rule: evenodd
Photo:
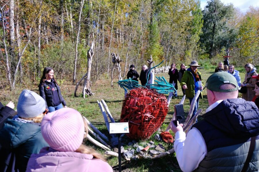
<path fill-rule="evenodd" d="M 0 171 L 26 171 L 31 154 L 49 146 L 40 123 L 45 114 L 45 101 L 37 93 L 23 90 L 17 103 L 17 113 L 7 119 L 0 130 Z"/>

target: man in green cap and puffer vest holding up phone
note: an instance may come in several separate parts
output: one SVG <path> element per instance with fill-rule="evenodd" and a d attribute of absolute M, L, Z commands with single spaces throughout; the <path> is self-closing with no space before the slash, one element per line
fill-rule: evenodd
<path fill-rule="evenodd" d="M 259 171 L 259 110 L 238 99 L 238 83 L 227 72 L 206 82 L 209 107 L 188 135 L 170 123 L 182 171 Z"/>

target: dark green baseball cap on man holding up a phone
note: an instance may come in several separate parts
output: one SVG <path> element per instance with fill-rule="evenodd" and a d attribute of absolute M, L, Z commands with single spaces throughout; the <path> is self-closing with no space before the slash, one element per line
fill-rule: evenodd
<path fill-rule="evenodd" d="M 219 89 L 221 85 L 223 84 L 233 84 L 236 87 L 234 89 Z M 237 91 L 238 90 L 238 84 L 237 80 L 234 76 L 232 76 L 228 72 L 216 72 L 207 79 L 206 85 L 204 88 L 209 89 L 210 91 L 217 91 L 217 92 L 232 92 L 232 91 Z"/>

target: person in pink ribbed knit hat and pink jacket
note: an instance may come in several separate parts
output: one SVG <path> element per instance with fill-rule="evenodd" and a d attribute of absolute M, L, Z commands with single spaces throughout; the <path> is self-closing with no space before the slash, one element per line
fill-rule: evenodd
<path fill-rule="evenodd" d="M 113 171 L 102 155 L 82 144 L 85 128 L 81 114 L 72 108 L 47 114 L 41 132 L 50 147 L 31 155 L 26 171 Z"/>

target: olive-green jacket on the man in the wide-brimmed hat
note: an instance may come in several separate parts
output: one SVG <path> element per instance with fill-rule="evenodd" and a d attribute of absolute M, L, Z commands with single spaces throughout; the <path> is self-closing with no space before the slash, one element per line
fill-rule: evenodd
<path fill-rule="evenodd" d="M 199 75 L 199 78 L 201 79 L 201 73 L 198 72 L 198 75 Z M 201 79 L 202 81 L 202 79 Z M 191 97 L 193 98 L 194 95 L 195 95 L 195 92 L 194 92 L 194 78 L 193 78 L 193 74 L 190 72 L 190 71 L 185 71 L 183 76 L 182 76 L 182 80 L 181 80 L 181 87 L 183 85 L 187 85 L 187 89 L 185 90 L 185 95 L 186 97 Z M 202 86 L 204 87 L 203 83 L 202 83 Z M 200 94 L 201 98 L 202 97 L 202 92 Z"/>

